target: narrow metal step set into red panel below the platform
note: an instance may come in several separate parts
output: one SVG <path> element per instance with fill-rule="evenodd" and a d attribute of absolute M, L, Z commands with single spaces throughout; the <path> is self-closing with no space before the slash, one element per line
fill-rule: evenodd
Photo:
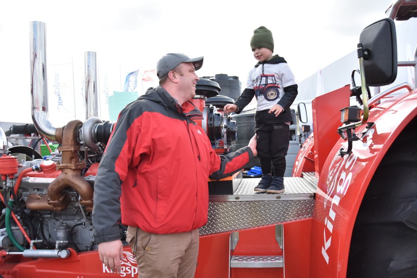
<path fill-rule="evenodd" d="M 230 267 L 267 268 L 284 267 L 282 256 L 232 256 Z"/>

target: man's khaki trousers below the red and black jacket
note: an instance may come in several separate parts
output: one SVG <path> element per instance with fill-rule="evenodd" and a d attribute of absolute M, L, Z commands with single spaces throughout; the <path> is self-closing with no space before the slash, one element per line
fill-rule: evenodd
<path fill-rule="evenodd" d="M 156 234 L 129 226 L 126 241 L 136 256 L 139 278 L 193 278 L 197 266 L 198 229 Z"/>

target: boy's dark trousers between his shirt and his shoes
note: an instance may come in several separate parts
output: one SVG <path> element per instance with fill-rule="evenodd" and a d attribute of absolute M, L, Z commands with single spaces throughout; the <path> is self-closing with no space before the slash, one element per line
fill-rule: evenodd
<path fill-rule="evenodd" d="M 283 177 L 286 168 L 285 156 L 290 144 L 290 126 L 286 123 L 255 124 L 255 133 L 257 157 L 262 174 L 272 173 L 273 165 L 275 176 Z"/>

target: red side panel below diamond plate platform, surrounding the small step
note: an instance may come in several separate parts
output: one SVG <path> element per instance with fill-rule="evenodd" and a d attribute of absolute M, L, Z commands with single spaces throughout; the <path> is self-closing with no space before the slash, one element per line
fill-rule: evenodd
<path fill-rule="evenodd" d="M 310 277 L 312 219 L 284 223 L 284 253 L 275 237 L 275 225 L 239 231 L 231 255 L 284 255 L 284 268 L 232 268 L 232 278 Z M 202 236 L 196 278 L 229 277 L 230 233 Z"/>

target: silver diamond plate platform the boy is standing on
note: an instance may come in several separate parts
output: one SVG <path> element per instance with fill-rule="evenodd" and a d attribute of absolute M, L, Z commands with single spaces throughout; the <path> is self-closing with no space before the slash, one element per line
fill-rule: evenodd
<path fill-rule="evenodd" d="M 318 179 L 314 173 L 302 178 L 285 177 L 285 193 L 254 191 L 260 178 L 242 179 L 232 195 L 209 196 L 209 219 L 200 235 L 277 224 L 312 216 Z"/>

